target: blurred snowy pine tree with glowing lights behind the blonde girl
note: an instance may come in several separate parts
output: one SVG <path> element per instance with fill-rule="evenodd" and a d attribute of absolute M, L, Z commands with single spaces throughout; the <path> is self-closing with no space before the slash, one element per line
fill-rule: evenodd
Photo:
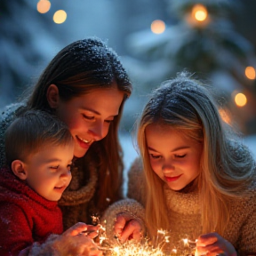
<path fill-rule="evenodd" d="M 127 60 L 127 66 L 132 63 L 129 70 L 140 91 L 147 92 L 187 69 L 216 87 L 226 122 L 238 125 L 245 134 L 255 133 L 255 49 L 231 21 L 243 4 L 232 0 L 167 0 L 167 8 L 176 22 L 166 25 L 164 33 L 141 31 L 128 40 L 137 60 Z M 246 67 L 252 67 L 251 79 L 245 76 Z M 238 92 L 247 98 L 244 107 L 236 104 Z"/>

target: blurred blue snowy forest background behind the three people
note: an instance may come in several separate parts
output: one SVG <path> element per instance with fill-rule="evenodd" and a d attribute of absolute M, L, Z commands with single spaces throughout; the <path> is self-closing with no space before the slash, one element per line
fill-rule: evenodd
<path fill-rule="evenodd" d="M 256 1 L 49 0 L 45 13 L 37 12 L 39 1 L 48 0 L 0 2 L 0 108 L 34 84 L 64 46 L 99 36 L 121 56 L 133 84 L 120 127 L 125 171 L 137 156 L 132 125 L 148 92 L 184 68 L 216 87 L 223 118 L 244 134 L 256 157 L 256 80 L 244 76 L 246 67 L 256 68 Z M 204 22 L 192 19 L 198 4 L 206 8 Z M 59 10 L 67 19 L 57 24 Z M 162 22 L 157 33 L 156 20 Z M 234 100 L 238 92 L 246 95 L 244 107 Z"/>

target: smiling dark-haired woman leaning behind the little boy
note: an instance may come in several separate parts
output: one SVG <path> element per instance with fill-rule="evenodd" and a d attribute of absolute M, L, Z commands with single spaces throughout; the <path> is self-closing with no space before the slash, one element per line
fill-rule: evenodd
<path fill-rule="evenodd" d="M 117 132 L 131 92 L 132 84 L 116 52 L 99 38 L 89 37 L 58 52 L 32 92 L 1 113 L 1 166 L 5 164 L 4 132 L 16 116 L 39 109 L 68 124 L 75 140 L 75 163 L 73 178 L 59 201 L 64 230 L 76 222 L 90 223 L 92 215 L 100 215 L 108 204 L 122 198 L 123 162 Z M 71 242 L 67 238 L 65 243 Z"/>

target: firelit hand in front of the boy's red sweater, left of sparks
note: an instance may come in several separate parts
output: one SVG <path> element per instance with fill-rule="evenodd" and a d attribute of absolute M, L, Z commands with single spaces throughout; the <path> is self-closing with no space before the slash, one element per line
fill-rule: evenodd
<path fill-rule="evenodd" d="M 89 234 L 90 231 L 92 233 Z M 54 247 L 60 255 L 102 256 L 92 240 L 97 231 L 98 227 L 78 222 L 56 239 Z"/>

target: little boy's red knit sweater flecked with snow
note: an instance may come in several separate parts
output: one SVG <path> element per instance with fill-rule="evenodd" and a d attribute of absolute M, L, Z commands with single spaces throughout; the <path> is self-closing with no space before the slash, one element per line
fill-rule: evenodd
<path fill-rule="evenodd" d="M 1 169 L 0 255 L 18 255 L 34 242 L 42 243 L 49 235 L 62 232 L 57 202 L 39 196 L 9 169 Z"/>

